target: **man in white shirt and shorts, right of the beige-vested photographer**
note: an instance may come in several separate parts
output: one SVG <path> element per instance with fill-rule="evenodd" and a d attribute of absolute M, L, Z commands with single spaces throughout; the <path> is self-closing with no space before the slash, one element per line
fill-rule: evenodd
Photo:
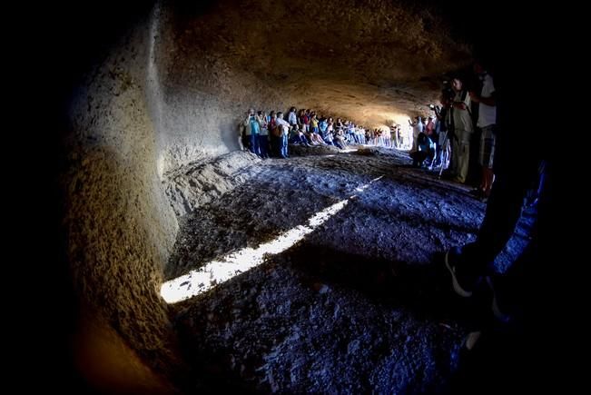
<path fill-rule="evenodd" d="M 474 73 L 482 81 L 480 94 L 470 92 L 470 99 L 478 103 L 478 127 L 480 135 L 480 150 L 478 162 L 482 166 L 482 178 L 478 187 L 478 194 L 488 199 L 494 181 L 493 157 L 495 154 L 495 124 L 497 123 L 497 105 L 495 102 L 495 84 L 483 65 L 474 63 Z"/>

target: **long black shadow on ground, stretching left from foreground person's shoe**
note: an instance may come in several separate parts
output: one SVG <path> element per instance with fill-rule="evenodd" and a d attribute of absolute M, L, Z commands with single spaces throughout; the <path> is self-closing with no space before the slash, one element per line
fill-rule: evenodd
<path fill-rule="evenodd" d="M 389 307 L 403 307 L 421 319 L 441 323 L 459 321 L 462 325 L 476 327 L 488 315 L 476 313 L 488 310 L 483 306 L 491 301 L 484 287 L 473 299 L 462 299 L 453 294 L 442 254 L 435 254 L 429 264 L 410 265 L 330 250 L 306 242 L 286 253 L 294 267 L 314 281 L 360 291 L 372 301 Z"/>

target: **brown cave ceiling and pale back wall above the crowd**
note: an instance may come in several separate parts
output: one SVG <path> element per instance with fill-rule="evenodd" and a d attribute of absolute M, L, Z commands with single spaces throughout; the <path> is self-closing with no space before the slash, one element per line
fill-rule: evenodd
<path fill-rule="evenodd" d="M 235 147 L 249 106 L 406 124 L 438 100 L 441 74 L 468 62 L 468 47 L 419 5 L 226 0 L 165 14 L 158 64 L 166 141 L 198 143 L 202 153 Z M 171 156 L 166 163 L 183 160 Z"/>

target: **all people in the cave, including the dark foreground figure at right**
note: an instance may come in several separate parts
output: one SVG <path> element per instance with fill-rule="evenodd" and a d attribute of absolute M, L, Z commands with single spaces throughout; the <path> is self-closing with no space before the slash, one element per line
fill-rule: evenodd
<path fill-rule="evenodd" d="M 441 105 L 430 105 L 431 114 L 417 116 L 409 125 L 392 124 L 389 129 L 365 129 L 348 120 L 318 116 L 314 111 L 291 107 L 287 114 L 269 115 L 250 110 L 241 122 L 241 144 L 262 158 L 289 157 L 289 144 L 335 145 L 373 144 L 409 150 L 414 166 L 439 167 L 446 177 L 467 183 L 470 145 L 478 143 L 479 184 L 472 193 L 488 202 L 487 212 L 476 240 L 448 249 L 445 267 L 451 287 L 458 296 L 471 298 L 480 284 L 492 291 L 491 312 L 499 322 L 523 320 L 524 268 L 539 263 L 545 245 L 552 202 L 553 167 L 527 150 L 527 138 L 515 131 L 518 105 L 507 94 L 510 84 L 497 90 L 484 64 L 473 65 L 472 81 L 455 75 L 448 80 L 440 97 Z M 475 83 L 476 82 L 476 83 Z M 508 87 L 507 87 L 508 86 Z M 500 91 L 504 91 L 501 94 Z M 503 104 L 502 113 L 497 106 Z M 503 120 L 502 122 L 499 122 Z M 473 172 L 476 173 L 476 172 Z M 507 272 L 499 273 L 495 258 L 516 229 L 527 202 L 535 206 L 537 225 L 527 250 Z M 488 199 L 490 199 L 488 201 Z M 481 331 L 468 334 L 464 346 L 472 349 Z"/>

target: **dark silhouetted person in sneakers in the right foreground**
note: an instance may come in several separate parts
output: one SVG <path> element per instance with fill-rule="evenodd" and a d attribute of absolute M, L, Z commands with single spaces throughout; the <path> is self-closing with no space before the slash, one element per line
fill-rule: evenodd
<path fill-rule="evenodd" d="M 540 191 L 537 226 L 522 257 L 512 262 L 508 270 L 499 274 L 494 266 L 495 258 L 502 252 L 515 232 L 522 214 L 524 198 L 532 181 L 537 179 L 538 169 L 548 150 L 531 149 L 531 139 L 520 133 L 524 123 L 521 118 L 521 103 L 515 97 L 516 81 L 507 80 L 505 86 L 497 86 L 497 151 L 495 152 L 495 176 L 487 211 L 474 242 L 453 247 L 445 254 L 445 265 L 451 275 L 453 290 L 460 296 L 469 298 L 484 279 L 493 291 L 492 311 L 500 321 L 511 319 L 516 312 L 517 296 L 525 296 L 525 264 L 532 257 L 541 264 L 542 248 L 547 248 L 547 236 L 551 231 L 550 204 L 552 203 L 553 183 L 556 169 L 549 159 L 542 166 L 545 183 Z M 539 142 L 533 144 L 540 145 Z M 548 157 L 548 156 L 547 156 Z M 542 240 L 541 236 L 545 239 Z M 540 269 L 538 267 L 538 269 Z M 532 272 L 529 272 L 530 274 Z M 531 279 L 530 279 L 531 280 Z M 542 287 L 544 288 L 544 287 Z M 522 293 L 519 295 L 519 293 Z M 523 317 L 521 317 L 523 318 Z"/>

